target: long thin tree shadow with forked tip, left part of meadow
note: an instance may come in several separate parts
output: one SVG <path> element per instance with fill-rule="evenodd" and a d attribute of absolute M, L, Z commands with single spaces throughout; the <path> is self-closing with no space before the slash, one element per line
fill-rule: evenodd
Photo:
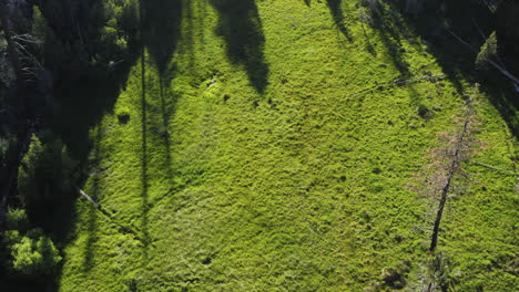
<path fill-rule="evenodd" d="M 141 9 L 141 126 L 142 126 L 142 157 L 141 157 L 141 231 L 144 244 L 144 262 L 149 261 L 147 248 L 151 242 L 149 233 L 149 211 L 153 207 L 149 196 L 149 143 L 153 142 L 153 134 L 161 137 L 164 144 L 164 169 L 167 180 L 172 181 L 171 169 L 171 142 L 169 121 L 174 112 L 176 98 L 166 95 L 164 87 L 169 86 L 173 79 L 174 69 L 170 66 L 171 60 L 177 48 L 181 36 L 182 0 L 147 0 L 140 1 Z M 187 40 L 191 41 L 191 40 Z M 147 53 L 146 54 L 146 49 Z M 146 56 L 150 59 L 146 60 Z M 157 84 L 150 83 L 146 79 L 147 65 L 152 65 L 159 72 Z M 153 81 L 152 81 L 153 82 Z M 159 87 L 155 96 L 154 88 Z M 152 101 L 159 98 L 159 108 Z M 149 116 L 161 113 L 160 117 Z M 154 123 L 162 119 L 160 125 Z"/>

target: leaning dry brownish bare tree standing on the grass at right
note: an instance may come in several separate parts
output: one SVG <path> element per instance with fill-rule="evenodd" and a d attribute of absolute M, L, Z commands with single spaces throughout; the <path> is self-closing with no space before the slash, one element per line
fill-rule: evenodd
<path fill-rule="evenodd" d="M 454 118 L 455 128 L 439 135 L 439 145 L 428 153 L 430 161 L 417 174 L 415 181 L 419 186 L 414 189 L 435 206 L 431 227 L 427 228 L 431 228 L 431 233 L 429 253 L 425 257 L 420 277 L 423 292 L 444 290 L 452 284 L 447 255 L 436 252 L 436 249 L 448 199 L 456 189 L 462 189 L 462 178 L 467 177 L 464 163 L 474 156 L 480 144 L 475 135 L 479 126 L 476 111 L 478 95 L 479 84 L 476 84 L 465 96 L 462 113 Z"/>

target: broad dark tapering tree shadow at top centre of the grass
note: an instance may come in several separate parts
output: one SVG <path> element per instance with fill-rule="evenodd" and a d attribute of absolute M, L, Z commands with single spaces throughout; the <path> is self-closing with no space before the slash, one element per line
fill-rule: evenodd
<path fill-rule="evenodd" d="M 258 93 L 267 85 L 268 66 L 263 53 L 265 36 L 254 0 L 211 0 L 220 14 L 216 33 L 227 43 L 231 62 L 242 64 Z"/>

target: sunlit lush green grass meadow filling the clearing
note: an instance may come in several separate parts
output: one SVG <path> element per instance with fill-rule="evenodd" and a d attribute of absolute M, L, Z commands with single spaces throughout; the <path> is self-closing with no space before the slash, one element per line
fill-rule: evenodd
<path fill-rule="evenodd" d="M 389 17 L 363 30 L 356 1 L 224 2 L 164 4 L 146 24 L 144 59 L 91 129 L 83 188 L 113 217 L 77 201 L 60 290 L 384 291 L 381 270 L 403 264 L 416 284 L 429 207 L 407 186 L 461 111 L 455 84 L 378 86 L 441 69 Z M 420 104 L 440 111 L 426 121 Z M 507 125 L 480 113 L 476 159 L 512 169 Z M 467 169 L 439 249 L 459 291 L 511 291 L 517 180 Z"/>

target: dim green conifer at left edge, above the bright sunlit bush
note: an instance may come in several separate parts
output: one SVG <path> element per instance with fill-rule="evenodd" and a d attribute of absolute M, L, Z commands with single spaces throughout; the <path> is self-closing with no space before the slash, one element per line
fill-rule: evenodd
<path fill-rule="evenodd" d="M 68 195 L 77 179 L 77 161 L 59 139 L 48 135 L 42 143 L 32 136 L 18 175 L 18 194 L 29 210 L 55 204 Z"/>

